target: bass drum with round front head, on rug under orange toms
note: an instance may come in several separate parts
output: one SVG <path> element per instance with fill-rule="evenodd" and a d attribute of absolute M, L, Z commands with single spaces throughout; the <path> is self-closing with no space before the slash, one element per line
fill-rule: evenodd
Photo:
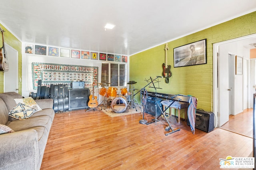
<path fill-rule="evenodd" d="M 114 98 L 111 102 L 111 109 L 115 113 L 122 113 L 127 108 L 127 102 L 124 96 L 118 96 Z"/>

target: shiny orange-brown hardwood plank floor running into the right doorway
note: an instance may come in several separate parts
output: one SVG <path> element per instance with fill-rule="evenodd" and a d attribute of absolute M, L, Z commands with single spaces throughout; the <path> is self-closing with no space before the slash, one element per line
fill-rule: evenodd
<path fill-rule="evenodd" d="M 152 115 L 146 114 L 149 121 Z M 215 170 L 219 158 L 248 157 L 252 138 L 215 128 L 193 135 L 185 121 L 180 131 L 165 136 L 168 125 L 142 125 L 141 113 L 109 117 L 102 111 L 56 113 L 44 152 L 41 170 Z"/>

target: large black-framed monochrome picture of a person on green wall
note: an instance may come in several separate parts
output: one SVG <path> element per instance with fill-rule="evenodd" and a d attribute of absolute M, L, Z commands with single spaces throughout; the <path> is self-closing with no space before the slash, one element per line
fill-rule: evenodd
<path fill-rule="evenodd" d="M 174 67 L 206 64 L 206 39 L 176 47 L 174 50 Z"/>

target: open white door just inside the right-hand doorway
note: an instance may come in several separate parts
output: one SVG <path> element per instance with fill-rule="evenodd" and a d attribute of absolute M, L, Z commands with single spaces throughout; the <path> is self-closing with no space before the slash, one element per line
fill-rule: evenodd
<path fill-rule="evenodd" d="M 229 57 L 228 53 L 218 48 L 218 127 L 229 118 Z"/>

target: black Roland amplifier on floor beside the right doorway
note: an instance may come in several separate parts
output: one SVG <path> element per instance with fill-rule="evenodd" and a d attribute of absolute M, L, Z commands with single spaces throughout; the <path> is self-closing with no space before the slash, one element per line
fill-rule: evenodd
<path fill-rule="evenodd" d="M 190 125 L 189 121 L 187 123 Z M 205 131 L 207 133 L 214 129 L 214 113 L 204 110 L 196 110 L 196 124 L 195 128 Z"/>

